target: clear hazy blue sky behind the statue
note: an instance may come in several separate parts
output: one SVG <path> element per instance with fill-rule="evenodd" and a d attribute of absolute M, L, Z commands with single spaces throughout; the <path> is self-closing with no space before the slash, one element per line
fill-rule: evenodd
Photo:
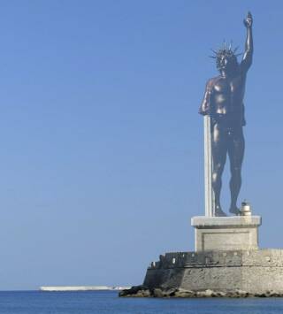
<path fill-rule="evenodd" d="M 248 10 L 240 201 L 280 248 L 281 1 L 1 1 L 0 289 L 140 284 L 159 254 L 194 248 L 208 56 L 243 50 Z"/>

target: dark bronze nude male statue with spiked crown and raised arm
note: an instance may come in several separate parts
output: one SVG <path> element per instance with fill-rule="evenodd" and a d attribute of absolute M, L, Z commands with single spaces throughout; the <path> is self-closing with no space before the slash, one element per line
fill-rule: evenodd
<path fill-rule="evenodd" d="M 221 176 L 226 164 L 226 155 L 230 159 L 230 212 L 237 215 L 237 198 L 241 188 L 241 164 L 245 141 L 242 126 L 245 126 L 243 97 L 246 76 L 253 57 L 252 15 L 249 12 L 244 25 L 247 28 L 245 52 L 241 64 L 232 45 L 214 51 L 216 65 L 220 75 L 207 82 L 203 103 L 199 113 L 210 116 L 212 189 L 215 197 L 215 216 L 226 216 L 220 205 Z"/>

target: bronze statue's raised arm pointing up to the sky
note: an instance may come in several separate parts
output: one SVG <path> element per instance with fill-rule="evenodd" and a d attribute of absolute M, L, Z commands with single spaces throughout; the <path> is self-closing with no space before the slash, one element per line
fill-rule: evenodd
<path fill-rule="evenodd" d="M 253 25 L 253 17 L 250 12 L 248 12 L 247 18 L 244 19 L 244 26 L 247 28 L 247 38 L 245 44 L 245 52 L 241 60 L 241 71 L 247 72 L 249 70 L 249 66 L 253 61 L 253 52 L 254 52 L 254 44 L 253 44 L 253 34 L 252 34 L 252 25 Z"/>

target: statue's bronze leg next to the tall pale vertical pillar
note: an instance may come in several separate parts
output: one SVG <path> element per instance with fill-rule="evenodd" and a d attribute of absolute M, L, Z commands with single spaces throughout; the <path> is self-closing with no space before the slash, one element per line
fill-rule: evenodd
<path fill-rule="evenodd" d="M 226 163 L 227 141 L 226 130 L 219 123 L 211 127 L 211 152 L 212 152 L 212 188 L 215 199 L 215 216 L 226 216 L 220 204 L 222 186 L 222 173 Z"/>

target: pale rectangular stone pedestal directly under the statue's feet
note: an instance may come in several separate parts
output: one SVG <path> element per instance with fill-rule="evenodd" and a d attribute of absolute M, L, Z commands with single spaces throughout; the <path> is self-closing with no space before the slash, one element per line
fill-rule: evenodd
<path fill-rule="evenodd" d="M 191 219 L 195 227 L 195 251 L 258 249 L 260 216 L 205 217 Z"/>

